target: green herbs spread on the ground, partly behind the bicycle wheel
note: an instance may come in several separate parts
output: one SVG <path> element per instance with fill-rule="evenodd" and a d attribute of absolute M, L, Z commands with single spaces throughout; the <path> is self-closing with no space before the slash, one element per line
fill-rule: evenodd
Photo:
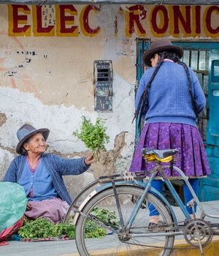
<path fill-rule="evenodd" d="M 91 214 L 105 222 L 118 225 L 118 222 L 115 219 L 114 211 L 106 211 L 102 208 L 94 208 Z M 23 227 L 20 228 L 18 234 L 20 235 L 20 238 L 30 239 L 59 237 L 65 235 L 70 239 L 74 239 L 75 227 L 71 222 L 58 223 L 57 225 L 54 225 L 53 223 L 47 221 L 47 219 L 43 218 L 35 219 L 30 222 L 25 219 Z M 104 228 L 88 219 L 85 224 L 85 236 L 87 238 L 101 238 L 105 235 L 106 230 Z"/>

